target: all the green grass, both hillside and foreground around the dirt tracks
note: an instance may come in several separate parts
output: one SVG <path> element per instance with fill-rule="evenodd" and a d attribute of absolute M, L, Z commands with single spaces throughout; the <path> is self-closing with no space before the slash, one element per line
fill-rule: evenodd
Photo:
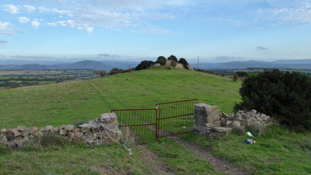
<path fill-rule="evenodd" d="M 240 101 L 240 82 L 207 73 L 157 68 L 122 73 L 83 82 L 59 83 L 0 90 L 0 128 L 18 125 L 72 124 L 91 120 L 111 109 L 154 108 L 156 103 L 198 98 L 199 103 L 232 112 Z M 244 144 L 245 133 L 231 133 L 223 140 L 181 135 L 213 154 L 254 174 L 310 174 L 311 135 L 271 127 L 259 136 L 249 128 L 257 144 Z M 53 142 L 51 142 L 53 143 Z M 163 144 L 162 144 L 163 143 Z M 175 174 L 221 174 L 182 145 L 167 138 L 147 145 L 156 161 Z M 97 146 L 56 144 L 22 150 L 0 147 L 0 174 L 151 174 L 140 146 L 132 155 L 117 144 Z"/>

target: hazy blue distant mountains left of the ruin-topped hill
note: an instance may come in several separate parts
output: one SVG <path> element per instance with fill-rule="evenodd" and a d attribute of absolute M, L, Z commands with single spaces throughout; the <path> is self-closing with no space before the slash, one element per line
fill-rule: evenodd
<path fill-rule="evenodd" d="M 92 61 L 84 60 L 76 63 L 61 64 L 8 64 L 0 65 L 0 70 L 30 70 L 30 69 L 94 69 L 110 71 L 113 68 L 129 69 L 135 68 L 139 62 L 123 62 L 123 61 Z"/>

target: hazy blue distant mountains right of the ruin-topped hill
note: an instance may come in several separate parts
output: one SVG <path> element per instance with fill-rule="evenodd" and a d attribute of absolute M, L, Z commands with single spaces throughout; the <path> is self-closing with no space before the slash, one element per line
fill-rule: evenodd
<path fill-rule="evenodd" d="M 191 67 L 197 68 L 197 64 L 190 64 Z M 199 69 L 246 69 L 246 68 L 297 68 L 311 69 L 311 59 L 292 59 L 267 61 L 230 61 L 225 63 L 200 63 Z"/>

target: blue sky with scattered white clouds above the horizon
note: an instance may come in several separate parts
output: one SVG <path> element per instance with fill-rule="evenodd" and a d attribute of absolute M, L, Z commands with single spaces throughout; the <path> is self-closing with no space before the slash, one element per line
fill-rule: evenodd
<path fill-rule="evenodd" d="M 2 0 L 0 60 L 311 59 L 310 24 L 311 1 Z"/>

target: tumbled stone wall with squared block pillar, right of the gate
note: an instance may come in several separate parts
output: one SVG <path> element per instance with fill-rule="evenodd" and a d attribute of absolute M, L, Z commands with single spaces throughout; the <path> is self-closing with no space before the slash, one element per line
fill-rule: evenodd
<path fill-rule="evenodd" d="M 238 111 L 236 114 L 230 115 L 219 111 L 220 107 L 218 106 L 205 103 L 194 105 L 194 133 L 215 138 L 219 133 L 228 133 L 233 128 L 244 129 L 245 126 L 250 125 L 268 126 L 273 124 L 270 116 L 261 114 L 256 110 Z"/>

